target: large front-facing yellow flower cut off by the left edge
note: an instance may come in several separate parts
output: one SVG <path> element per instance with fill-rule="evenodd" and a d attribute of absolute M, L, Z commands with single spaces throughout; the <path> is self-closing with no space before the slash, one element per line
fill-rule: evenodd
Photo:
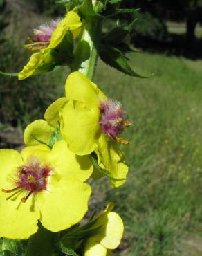
<path fill-rule="evenodd" d="M 92 166 L 64 140 L 0 150 L 0 237 L 28 239 L 37 222 L 52 232 L 78 223 L 88 210 Z"/>

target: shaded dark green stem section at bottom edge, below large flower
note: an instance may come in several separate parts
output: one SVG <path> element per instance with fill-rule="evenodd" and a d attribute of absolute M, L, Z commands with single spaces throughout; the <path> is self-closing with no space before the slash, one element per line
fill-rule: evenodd
<path fill-rule="evenodd" d="M 51 256 L 55 253 L 56 233 L 39 224 L 39 230 L 28 241 L 25 256 Z"/>

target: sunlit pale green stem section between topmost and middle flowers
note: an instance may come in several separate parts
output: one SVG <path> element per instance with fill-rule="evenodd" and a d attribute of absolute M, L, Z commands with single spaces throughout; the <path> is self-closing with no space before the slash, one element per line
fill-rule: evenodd
<path fill-rule="evenodd" d="M 77 48 L 75 49 L 75 62 L 73 71 L 80 71 L 90 80 L 93 80 L 98 61 L 97 49 L 100 44 L 101 21 L 97 17 L 91 17 L 83 24 Z"/>

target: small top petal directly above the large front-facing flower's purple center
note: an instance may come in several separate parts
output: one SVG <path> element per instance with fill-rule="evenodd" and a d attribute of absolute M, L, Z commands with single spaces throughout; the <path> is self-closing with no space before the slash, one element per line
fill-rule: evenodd
<path fill-rule="evenodd" d="M 41 163 L 46 163 L 50 157 L 50 149 L 44 144 L 28 146 L 22 149 L 21 157 L 24 159 L 24 162 L 37 158 Z"/>

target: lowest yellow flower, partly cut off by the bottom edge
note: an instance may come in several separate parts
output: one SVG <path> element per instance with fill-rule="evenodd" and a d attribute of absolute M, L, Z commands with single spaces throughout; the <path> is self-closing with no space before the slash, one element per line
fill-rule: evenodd
<path fill-rule="evenodd" d="M 84 256 L 110 256 L 111 250 L 116 249 L 122 238 L 124 226 L 116 212 L 111 212 L 113 203 L 100 214 L 93 228 L 100 228 L 97 235 L 90 237 L 84 247 Z"/>

